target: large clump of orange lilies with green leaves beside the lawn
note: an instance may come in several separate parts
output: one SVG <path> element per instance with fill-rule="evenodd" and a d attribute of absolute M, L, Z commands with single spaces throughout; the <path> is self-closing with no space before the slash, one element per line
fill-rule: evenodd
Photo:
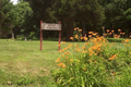
<path fill-rule="evenodd" d="M 69 44 L 60 50 L 62 55 L 56 60 L 59 69 L 52 72 L 58 87 L 116 86 L 115 77 L 122 76 L 120 73 L 131 64 L 128 41 L 121 46 L 110 44 L 104 37 L 93 37 L 82 48 L 79 44 Z"/>

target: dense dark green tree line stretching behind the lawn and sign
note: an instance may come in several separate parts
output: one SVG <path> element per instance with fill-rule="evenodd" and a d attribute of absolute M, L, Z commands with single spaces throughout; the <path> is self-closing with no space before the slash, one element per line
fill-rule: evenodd
<path fill-rule="evenodd" d="M 73 36 L 73 28 L 103 33 L 121 28 L 131 32 L 131 0 L 0 0 L 1 37 L 14 33 L 27 38 L 39 37 L 39 22 L 62 24 L 62 38 Z M 7 26 L 8 25 L 8 26 Z M 45 32 L 44 37 L 57 37 L 58 32 Z"/>

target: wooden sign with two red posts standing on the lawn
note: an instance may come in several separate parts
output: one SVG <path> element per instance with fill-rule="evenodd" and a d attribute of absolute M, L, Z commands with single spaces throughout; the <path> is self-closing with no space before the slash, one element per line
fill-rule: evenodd
<path fill-rule="evenodd" d="M 43 50 L 43 29 L 44 30 L 59 30 L 59 45 L 58 50 L 60 50 L 60 40 L 61 40 L 61 23 L 52 24 L 52 23 L 44 23 L 40 21 L 40 50 Z"/>

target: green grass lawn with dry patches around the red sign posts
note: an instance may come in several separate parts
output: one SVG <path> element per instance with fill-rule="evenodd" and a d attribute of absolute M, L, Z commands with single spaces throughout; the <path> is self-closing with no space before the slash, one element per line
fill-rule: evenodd
<path fill-rule="evenodd" d="M 75 46 L 78 42 L 68 44 Z M 61 49 L 64 47 L 62 45 Z M 112 48 L 124 50 L 124 47 L 116 42 L 107 51 Z M 50 72 L 58 67 L 56 60 L 60 57 L 58 41 L 43 40 L 40 51 L 39 40 L 0 39 L 0 87 L 57 87 Z"/>

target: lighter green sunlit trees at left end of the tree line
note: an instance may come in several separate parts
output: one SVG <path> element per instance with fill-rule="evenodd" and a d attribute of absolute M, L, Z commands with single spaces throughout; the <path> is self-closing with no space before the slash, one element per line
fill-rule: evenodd
<path fill-rule="evenodd" d="M 21 1 L 14 5 L 10 0 L 0 0 L 0 35 L 2 38 L 12 37 L 14 34 L 31 32 L 29 20 L 33 11 L 28 2 Z"/>

